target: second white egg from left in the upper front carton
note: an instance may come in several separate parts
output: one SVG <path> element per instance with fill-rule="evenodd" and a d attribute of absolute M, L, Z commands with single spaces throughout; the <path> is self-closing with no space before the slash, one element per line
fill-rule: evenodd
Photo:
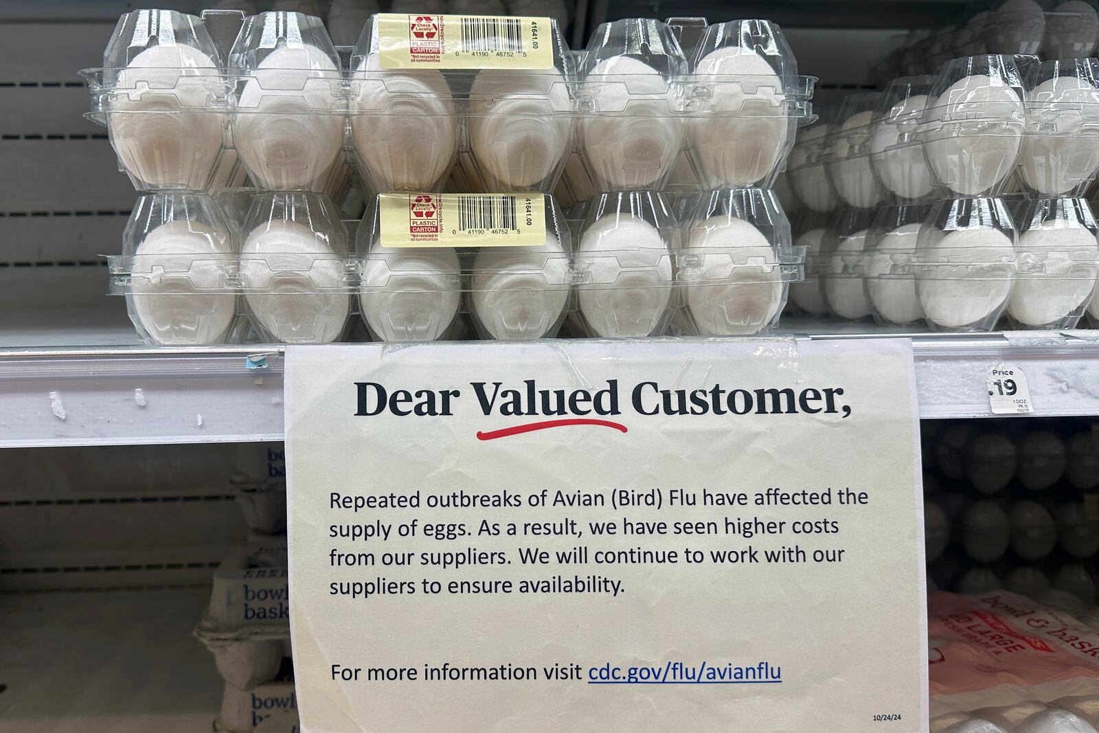
<path fill-rule="evenodd" d="M 260 188 L 319 190 L 343 149 L 338 69 L 315 46 L 284 46 L 252 74 L 234 116 L 241 159 Z"/>

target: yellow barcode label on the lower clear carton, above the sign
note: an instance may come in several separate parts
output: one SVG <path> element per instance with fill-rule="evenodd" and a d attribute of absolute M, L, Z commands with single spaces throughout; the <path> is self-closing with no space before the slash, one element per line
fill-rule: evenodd
<path fill-rule="evenodd" d="M 542 193 L 382 193 L 384 247 L 534 247 L 546 241 Z"/>

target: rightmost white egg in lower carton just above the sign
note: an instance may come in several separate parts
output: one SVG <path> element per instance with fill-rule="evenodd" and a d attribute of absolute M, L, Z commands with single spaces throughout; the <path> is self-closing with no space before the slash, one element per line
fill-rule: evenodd
<path fill-rule="evenodd" d="M 759 230 L 741 219 L 711 216 L 690 229 L 688 247 L 700 257 L 701 282 L 684 286 L 700 335 L 758 333 L 771 323 L 782 306 L 782 274 Z"/>

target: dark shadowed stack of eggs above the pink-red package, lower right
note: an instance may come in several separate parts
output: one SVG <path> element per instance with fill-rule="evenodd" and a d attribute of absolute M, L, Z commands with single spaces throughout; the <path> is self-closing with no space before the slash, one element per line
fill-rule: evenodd
<path fill-rule="evenodd" d="M 1092 431 L 958 422 L 925 438 L 936 468 L 924 475 L 929 586 L 1006 589 L 1099 631 Z"/>

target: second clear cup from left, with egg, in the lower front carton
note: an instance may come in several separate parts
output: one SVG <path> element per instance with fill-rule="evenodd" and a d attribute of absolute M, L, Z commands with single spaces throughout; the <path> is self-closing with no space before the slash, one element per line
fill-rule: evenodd
<path fill-rule="evenodd" d="M 241 289 L 266 342 L 338 341 L 352 315 L 347 230 L 322 193 L 257 193 L 243 226 Z"/>

